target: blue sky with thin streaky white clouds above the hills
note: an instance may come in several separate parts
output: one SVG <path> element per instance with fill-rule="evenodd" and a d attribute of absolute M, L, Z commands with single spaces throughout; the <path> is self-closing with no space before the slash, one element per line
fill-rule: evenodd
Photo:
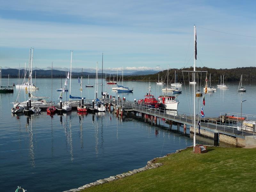
<path fill-rule="evenodd" d="M 0 0 L 0 65 L 108 73 L 256 66 L 256 1 Z"/>

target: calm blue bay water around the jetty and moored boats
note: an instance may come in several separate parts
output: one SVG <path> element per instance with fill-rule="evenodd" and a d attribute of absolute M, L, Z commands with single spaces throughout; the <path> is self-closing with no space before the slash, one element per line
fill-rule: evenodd
<path fill-rule="evenodd" d="M 10 79 L 10 84 L 18 84 L 18 79 Z M 95 82 L 90 79 L 90 84 Z M 2 79 L 2 85 L 7 79 Z M 84 86 L 87 80 L 83 82 Z M 104 83 L 103 83 L 104 84 Z M 237 93 L 239 82 L 227 83 L 229 89 L 205 95 L 205 116 L 219 116 L 220 112 L 256 114 L 255 83 L 244 83 L 247 92 Z M 148 91 L 146 82 L 125 82 L 134 92 L 120 94 L 127 100 L 143 98 Z M 39 90 L 36 95 L 51 97 L 51 79 L 37 79 Z M 216 86 L 216 85 L 215 85 Z M 155 96 L 163 94 L 161 85 L 151 83 Z M 53 79 L 53 100 L 58 100 L 60 79 Z M 191 111 L 192 86 L 180 88 L 179 111 Z M 84 88 L 86 99 L 94 98 L 94 88 Z M 117 97 L 111 86 L 103 87 Z M 113 113 L 96 113 L 79 116 L 72 111 L 63 116 L 12 115 L 11 102 L 17 92 L 0 94 L 0 188 L 1 191 L 15 191 L 19 185 L 32 191 L 63 191 L 77 188 L 92 181 L 143 167 L 147 161 L 193 143 L 188 134 L 173 130 L 164 121 L 154 126 L 141 118 L 116 118 Z M 100 92 L 100 88 L 99 88 Z M 186 94 L 187 92 L 187 94 Z M 77 79 L 72 79 L 72 96 L 80 96 Z M 20 101 L 27 100 L 24 90 Z M 65 100 L 65 96 L 63 96 Z M 201 108 L 202 98 L 197 99 Z M 182 128 L 181 128 L 182 129 Z M 158 132 L 156 132 L 158 130 Z M 183 130 L 182 130 L 183 131 Z M 188 133 L 188 130 L 187 130 Z"/>

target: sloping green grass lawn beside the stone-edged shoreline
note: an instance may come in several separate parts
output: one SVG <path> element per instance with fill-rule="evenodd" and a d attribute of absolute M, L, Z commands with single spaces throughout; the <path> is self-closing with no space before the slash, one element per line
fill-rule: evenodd
<path fill-rule="evenodd" d="M 256 148 L 188 148 L 157 162 L 164 165 L 81 191 L 256 191 Z"/>

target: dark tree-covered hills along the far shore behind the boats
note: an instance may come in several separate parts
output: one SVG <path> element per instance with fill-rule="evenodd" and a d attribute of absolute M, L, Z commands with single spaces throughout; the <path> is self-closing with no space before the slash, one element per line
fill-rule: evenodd
<path fill-rule="evenodd" d="M 175 69 L 171 68 L 169 69 L 169 81 L 174 81 L 174 72 L 176 70 L 176 77 L 178 82 L 183 81 L 183 75 L 184 75 L 184 80 L 185 81 L 192 81 L 192 72 L 190 73 L 188 77 L 188 72 L 184 72 L 182 75 L 182 70 L 183 71 L 192 71 L 193 68 L 181 68 L 181 69 Z M 239 81 L 241 75 L 243 74 L 243 81 L 255 81 L 256 80 L 256 67 L 241 67 L 241 68 L 232 68 L 232 69 L 214 69 L 214 68 L 197 68 L 197 71 L 208 71 L 208 79 L 209 75 L 211 73 L 211 79 L 212 81 L 219 81 L 220 76 L 224 75 L 225 80 L 224 81 Z M 60 78 L 61 74 L 63 78 L 66 76 L 66 71 L 60 71 L 60 70 L 43 70 L 43 69 L 36 69 L 33 70 L 33 77 L 35 77 L 36 73 L 36 78 Z M 167 81 L 167 70 L 164 71 L 136 71 L 133 72 L 132 74 L 126 74 L 124 75 L 124 80 L 125 81 L 148 81 L 150 77 L 150 81 L 158 81 L 158 73 L 161 77 L 163 77 L 163 81 Z M 2 78 L 7 78 L 8 74 L 10 74 L 10 78 L 17 78 L 19 77 L 19 70 L 18 69 L 2 69 Z M 202 80 L 205 79 L 205 74 L 202 73 Z M 77 78 L 77 76 L 81 76 L 81 72 L 72 72 L 72 78 Z M 83 72 L 84 78 L 86 78 L 88 75 L 90 75 L 90 78 L 95 78 L 96 74 L 95 73 L 88 73 L 88 72 Z M 201 74 L 199 74 L 200 76 Z M 20 77 L 24 78 L 24 69 L 20 70 Z M 113 74 L 112 74 L 113 77 Z M 119 76 L 120 77 L 120 76 Z M 28 73 L 26 75 L 26 78 L 28 78 Z M 101 78 L 101 73 L 99 73 L 99 78 Z M 103 74 L 103 78 L 105 78 L 105 74 Z M 107 74 L 107 79 L 109 79 L 109 74 Z"/>

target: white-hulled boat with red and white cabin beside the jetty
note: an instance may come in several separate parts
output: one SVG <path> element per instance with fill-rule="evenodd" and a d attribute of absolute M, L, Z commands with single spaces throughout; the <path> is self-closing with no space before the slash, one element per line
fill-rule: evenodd
<path fill-rule="evenodd" d="M 178 100 L 174 96 L 160 95 L 158 97 L 160 103 L 159 107 L 167 110 L 177 110 L 178 109 Z"/>

